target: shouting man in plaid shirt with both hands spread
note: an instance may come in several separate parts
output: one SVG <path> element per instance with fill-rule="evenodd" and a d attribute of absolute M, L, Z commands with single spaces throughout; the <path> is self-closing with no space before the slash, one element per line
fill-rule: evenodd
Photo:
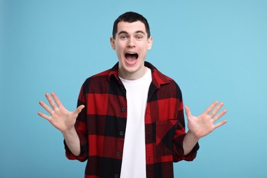
<path fill-rule="evenodd" d="M 66 157 L 87 160 L 85 177 L 173 177 L 173 162 L 194 160 L 199 139 L 227 122 L 214 125 L 226 113 L 218 112 L 223 103 L 197 117 L 185 107 L 185 132 L 179 86 L 144 62 L 152 43 L 146 18 L 122 14 L 110 38 L 118 63 L 86 79 L 77 110 L 66 110 L 54 93 L 55 103 L 46 94 L 52 108 L 40 101 L 51 116 L 38 114 L 64 135 Z"/>

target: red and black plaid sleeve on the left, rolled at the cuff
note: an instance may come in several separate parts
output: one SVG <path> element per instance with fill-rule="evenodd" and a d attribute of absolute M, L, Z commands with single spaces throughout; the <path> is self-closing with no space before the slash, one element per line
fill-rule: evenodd
<path fill-rule="evenodd" d="M 88 158 L 88 132 L 87 132 L 87 121 L 86 121 L 86 85 L 84 84 L 81 87 L 81 90 L 79 92 L 79 98 L 77 102 L 77 107 L 79 105 L 85 105 L 84 109 L 81 110 L 79 116 L 77 117 L 76 123 L 75 123 L 75 129 L 77 131 L 77 135 L 79 137 L 80 147 L 81 147 L 81 153 L 78 156 L 73 155 L 71 153 L 71 150 L 68 148 L 65 140 L 64 140 L 64 148 L 66 151 L 66 157 L 69 160 L 79 160 L 80 162 L 85 162 Z"/>

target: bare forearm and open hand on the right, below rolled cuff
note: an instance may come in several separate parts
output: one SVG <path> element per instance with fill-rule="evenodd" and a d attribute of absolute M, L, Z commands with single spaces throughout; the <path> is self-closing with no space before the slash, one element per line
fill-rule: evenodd
<path fill-rule="evenodd" d="M 223 120 L 220 123 L 214 125 L 214 122 L 222 117 L 227 111 L 223 110 L 222 112 L 218 111 L 223 107 L 223 103 L 215 101 L 212 105 L 207 107 L 207 110 L 199 116 L 192 116 L 189 107 L 185 107 L 186 115 L 188 116 L 188 133 L 186 133 L 185 138 L 183 139 L 183 151 L 184 155 L 187 155 L 192 151 L 196 143 L 200 138 L 207 136 L 209 133 L 214 131 L 214 129 L 227 123 L 227 120 Z M 218 113 L 218 114 L 217 114 Z"/>

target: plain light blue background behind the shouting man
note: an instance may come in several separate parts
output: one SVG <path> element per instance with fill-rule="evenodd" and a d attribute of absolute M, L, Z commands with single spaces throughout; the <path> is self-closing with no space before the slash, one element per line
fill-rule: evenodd
<path fill-rule="evenodd" d="M 147 61 L 177 81 L 192 114 L 214 100 L 227 125 L 200 141 L 175 177 L 267 177 L 267 1 L 0 1 L 0 177 L 84 177 L 63 137 L 37 115 L 45 92 L 75 110 L 90 75 L 112 67 L 114 20 L 143 14 Z"/>

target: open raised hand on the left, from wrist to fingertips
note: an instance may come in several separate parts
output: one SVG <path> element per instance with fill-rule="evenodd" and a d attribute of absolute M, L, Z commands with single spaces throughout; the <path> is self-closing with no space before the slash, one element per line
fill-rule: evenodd
<path fill-rule="evenodd" d="M 53 101 L 53 99 L 55 102 Z M 66 131 L 70 131 L 74 128 L 76 118 L 78 114 L 81 112 L 81 110 L 84 108 L 84 105 L 80 105 L 77 107 L 77 109 L 74 112 L 69 112 L 66 110 L 64 105 L 60 102 L 60 99 L 58 99 L 57 95 L 55 93 L 51 93 L 51 96 L 46 93 L 45 97 L 47 97 L 47 100 L 49 101 L 49 104 L 51 107 L 46 105 L 43 101 L 40 101 L 40 105 L 44 107 L 44 110 L 47 110 L 51 116 L 47 116 L 46 114 L 43 114 L 42 112 L 38 112 L 38 115 L 42 118 L 45 118 L 49 120 L 49 122 L 57 129 L 62 131 L 63 133 Z"/>

